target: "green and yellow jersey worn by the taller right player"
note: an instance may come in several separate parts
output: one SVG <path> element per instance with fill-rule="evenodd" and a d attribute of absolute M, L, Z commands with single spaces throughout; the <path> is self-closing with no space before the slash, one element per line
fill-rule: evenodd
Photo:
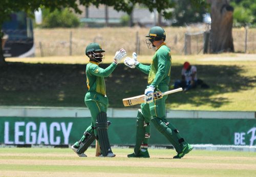
<path fill-rule="evenodd" d="M 172 57 L 170 49 L 163 42 L 156 50 L 152 58 L 151 65 L 137 64 L 136 67 L 145 74 L 148 74 L 147 83 L 154 87 L 158 85 L 169 85 L 170 66 L 172 65 Z"/>

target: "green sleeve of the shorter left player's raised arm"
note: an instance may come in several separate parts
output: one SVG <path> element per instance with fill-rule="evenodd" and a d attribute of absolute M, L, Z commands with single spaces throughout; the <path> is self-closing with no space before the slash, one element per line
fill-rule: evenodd
<path fill-rule="evenodd" d="M 98 77 L 109 77 L 109 75 L 115 70 L 116 66 L 117 66 L 116 64 L 112 63 L 109 65 L 108 68 L 103 69 L 96 64 L 92 64 L 89 67 L 89 73 L 91 75 L 98 76 Z"/>

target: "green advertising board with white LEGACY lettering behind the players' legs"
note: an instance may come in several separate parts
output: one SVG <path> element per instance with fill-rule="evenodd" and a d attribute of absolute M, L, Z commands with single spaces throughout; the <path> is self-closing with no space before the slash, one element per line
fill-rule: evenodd
<path fill-rule="evenodd" d="M 134 145 L 136 119 L 109 118 L 112 145 Z M 68 145 L 79 140 L 90 118 L 0 117 L 1 144 Z M 190 144 L 256 145 L 256 119 L 168 119 Z M 150 145 L 170 145 L 151 125 Z"/>

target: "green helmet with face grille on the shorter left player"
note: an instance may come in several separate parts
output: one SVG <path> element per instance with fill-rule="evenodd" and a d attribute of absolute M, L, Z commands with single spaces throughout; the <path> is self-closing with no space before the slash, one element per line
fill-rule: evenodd
<path fill-rule="evenodd" d="M 105 51 L 102 50 L 101 46 L 96 42 L 90 43 L 86 47 L 86 55 L 89 58 L 96 60 L 97 62 L 101 62 L 102 59 L 104 59 L 105 54 L 102 54 L 103 52 L 105 52 Z"/>

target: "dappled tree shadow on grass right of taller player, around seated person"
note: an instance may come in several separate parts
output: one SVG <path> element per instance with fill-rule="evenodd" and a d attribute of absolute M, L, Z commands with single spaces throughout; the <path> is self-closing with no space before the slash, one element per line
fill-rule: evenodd
<path fill-rule="evenodd" d="M 179 78 L 181 65 L 173 66 L 172 78 Z M 209 105 L 214 108 L 229 103 L 227 98 L 215 97 L 219 94 L 250 90 L 256 77 L 242 76 L 244 69 L 238 66 L 228 65 L 197 65 L 198 78 L 206 82 L 210 88 L 201 89 L 200 86 L 186 93 L 177 94 L 172 99 L 168 98 L 167 103 L 178 102 L 179 104 L 192 104 L 195 106 Z M 178 74 L 177 74 L 178 73 Z M 174 80 L 171 81 L 174 83 Z"/>

